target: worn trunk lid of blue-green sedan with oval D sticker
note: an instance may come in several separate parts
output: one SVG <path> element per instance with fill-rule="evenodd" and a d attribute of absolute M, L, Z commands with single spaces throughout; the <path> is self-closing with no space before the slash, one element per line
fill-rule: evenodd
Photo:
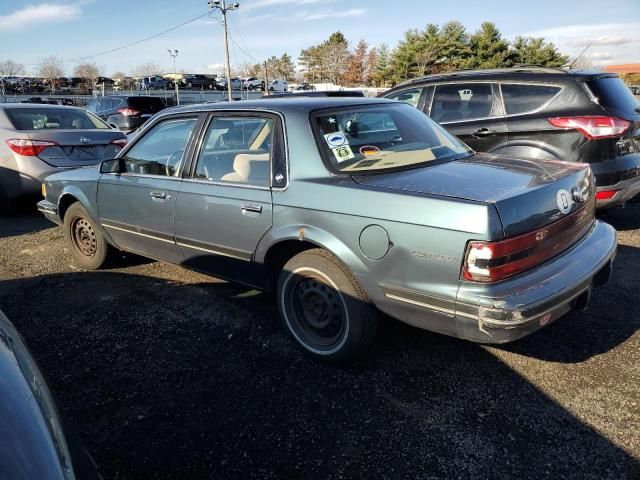
<path fill-rule="evenodd" d="M 392 173 L 356 175 L 361 185 L 494 204 L 504 236 L 530 232 L 581 209 L 595 192 L 587 165 L 490 154 Z M 593 217 L 593 212 L 590 214 Z"/>

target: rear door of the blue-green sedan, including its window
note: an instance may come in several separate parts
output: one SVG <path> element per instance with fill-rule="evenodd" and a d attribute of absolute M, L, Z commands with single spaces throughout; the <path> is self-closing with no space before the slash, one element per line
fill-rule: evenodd
<path fill-rule="evenodd" d="M 275 145 L 283 142 L 279 125 L 267 113 L 216 113 L 209 119 L 176 203 L 176 242 L 187 266 L 260 286 L 261 266 L 253 255 L 272 226 L 271 165 L 279 156 L 274 152 L 282 151 Z"/>

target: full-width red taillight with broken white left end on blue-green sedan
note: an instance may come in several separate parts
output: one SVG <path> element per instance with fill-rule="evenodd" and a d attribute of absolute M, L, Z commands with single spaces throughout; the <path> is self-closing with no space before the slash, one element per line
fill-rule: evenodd
<path fill-rule="evenodd" d="M 470 241 L 462 278 L 473 282 L 497 282 L 555 257 L 591 228 L 594 202 L 592 198 L 567 218 L 533 232 L 498 242 Z"/>

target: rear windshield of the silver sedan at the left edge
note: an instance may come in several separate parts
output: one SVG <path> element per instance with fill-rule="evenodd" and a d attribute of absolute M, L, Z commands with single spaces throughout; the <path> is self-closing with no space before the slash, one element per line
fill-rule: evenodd
<path fill-rule="evenodd" d="M 104 129 L 111 127 L 98 117 L 75 108 L 6 108 L 16 130 Z"/>

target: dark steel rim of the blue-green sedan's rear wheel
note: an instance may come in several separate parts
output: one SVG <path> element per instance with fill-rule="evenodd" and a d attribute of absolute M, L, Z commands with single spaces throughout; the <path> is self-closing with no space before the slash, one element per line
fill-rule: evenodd
<path fill-rule="evenodd" d="M 305 271 L 290 275 L 284 295 L 288 323 L 302 343 L 320 352 L 340 348 L 348 329 L 348 313 L 337 288 L 322 275 Z"/>

